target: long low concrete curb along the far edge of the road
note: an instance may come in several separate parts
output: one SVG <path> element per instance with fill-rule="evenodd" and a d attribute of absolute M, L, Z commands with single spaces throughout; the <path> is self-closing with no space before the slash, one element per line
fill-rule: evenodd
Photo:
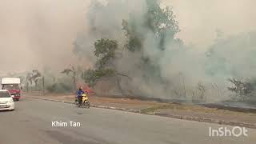
<path fill-rule="evenodd" d="M 50 101 L 50 102 L 62 102 L 62 103 L 68 103 L 68 104 L 74 104 L 74 102 L 66 102 L 61 100 L 54 100 L 54 99 L 48 99 L 48 98 L 34 98 L 26 96 L 26 98 L 33 98 L 33 99 L 39 99 L 44 101 Z M 127 109 L 127 108 L 118 108 L 114 106 L 98 106 L 98 105 L 91 105 L 91 107 L 101 108 L 101 109 L 109 109 L 109 110 L 122 110 L 126 112 L 132 112 L 132 113 L 138 113 L 138 114 L 147 114 L 147 115 L 158 115 L 162 117 L 167 118 L 176 118 L 176 119 L 183 119 L 188 121 L 195 121 L 195 122 L 209 122 L 209 123 L 216 123 L 220 125 L 228 125 L 228 126 L 241 126 L 241 127 L 247 127 L 256 129 L 256 123 L 246 123 L 246 122 L 232 122 L 232 121 L 223 121 L 218 119 L 212 119 L 212 118 L 200 118 L 200 117 L 190 117 L 185 115 L 176 115 L 176 114 L 162 114 L 162 113 L 142 113 L 142 110 L 135 110 L 135 109 Z"/>

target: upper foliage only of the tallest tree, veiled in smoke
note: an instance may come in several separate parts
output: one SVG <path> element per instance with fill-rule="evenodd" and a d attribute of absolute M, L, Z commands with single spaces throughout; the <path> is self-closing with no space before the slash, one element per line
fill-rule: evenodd
<path fill-rule="evenodd" d="M 128 38 L 126 48 L 132 52 L 142 50 L 142 43 L 148 31 L 154 34 L 154 38 L 158 40 L 156 48 L 161 50 L 166 48 L 166 37 L 174 40 L 174 35 L 180 31 L 170 7 L 161 8 L 158 0 L 146 0 L 146 6 L 147 11 L 142 18 L 130 14 L 130 19 L 122 20 L 122 30 L 125 30 Z"/>

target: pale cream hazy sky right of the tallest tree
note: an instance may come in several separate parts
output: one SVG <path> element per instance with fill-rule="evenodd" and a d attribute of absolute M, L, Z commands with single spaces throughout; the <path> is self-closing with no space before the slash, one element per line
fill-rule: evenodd
<path fill-rule="evenodd" d="M 186 43 L 206 47 L 220 29 L 226 35 L 256 30 L 255 0 L 162 0 L 173 6 Z"/>

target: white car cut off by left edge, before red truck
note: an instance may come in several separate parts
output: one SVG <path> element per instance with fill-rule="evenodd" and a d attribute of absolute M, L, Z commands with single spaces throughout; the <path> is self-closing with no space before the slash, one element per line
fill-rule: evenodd
<path fill-rule="evenodd" d="M 0 110 L 14 110 L 14 99 L 8 90 L 0 90 Z"/>

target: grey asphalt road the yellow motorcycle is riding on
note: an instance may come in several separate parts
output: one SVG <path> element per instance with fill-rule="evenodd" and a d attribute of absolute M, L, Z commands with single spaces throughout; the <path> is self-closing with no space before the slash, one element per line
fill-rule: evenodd
<path fill-rule="evenodd" d="M 250 144 L 248 136 L 209 137 L 209 127 L 221 125 L 30 98 L 16 103 L 16 110 L 0 112 L 0 144 Z M 80 122 L 80 127 L 52 126 L 52 122 Z M 68 123 L 70 124 L 70 123 Z M 227 126 L 228 129 L 232 127 Z"/>

